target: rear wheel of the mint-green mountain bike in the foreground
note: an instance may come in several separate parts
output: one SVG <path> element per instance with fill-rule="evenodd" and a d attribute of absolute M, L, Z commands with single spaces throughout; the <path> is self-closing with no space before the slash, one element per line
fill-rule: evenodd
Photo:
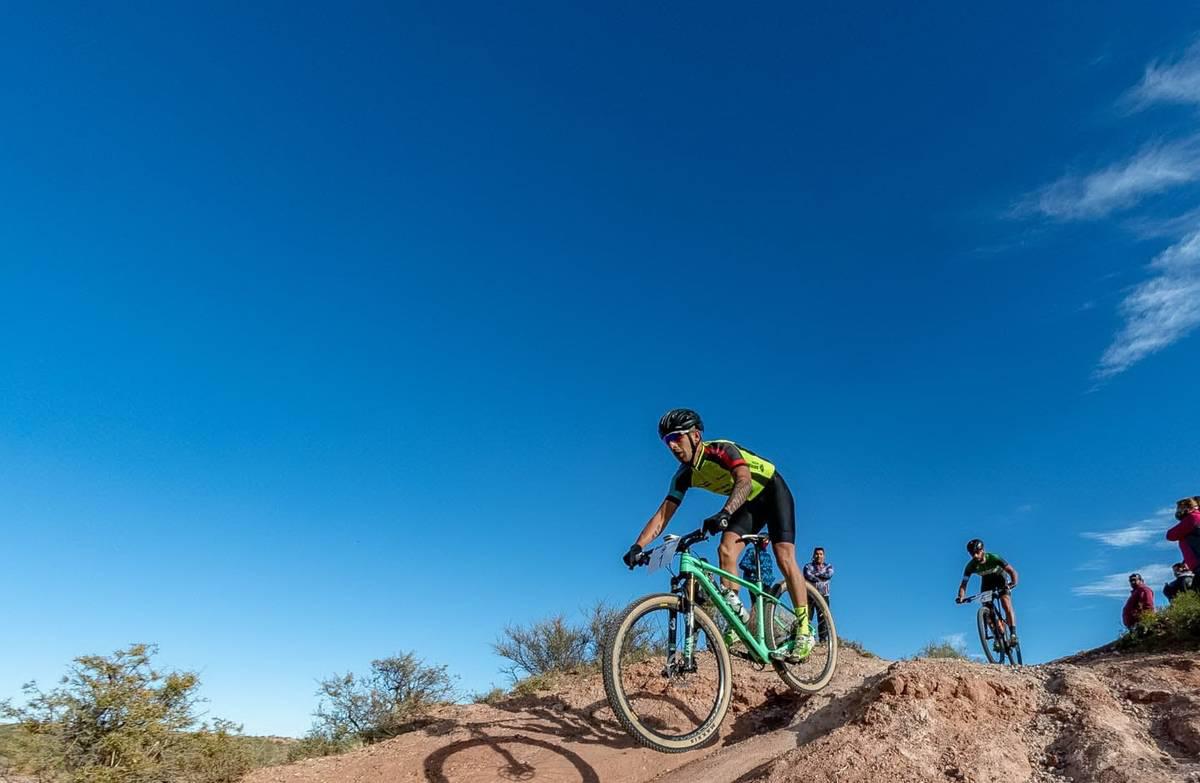
<path fill-rule="evenodd" d="M 782 586 L 782 587 L 780 587 Z M 809 614 L 809 630 L 816 636 L 817 628 L 812 623 L 814 616 L 818 616 L 823 627 L 821 636 L 815 638 L 812 652 L 803 661 L 788 662 L 772 657 L 772 665 L 775 674 L 793 691 L 800 693 L 816 693 L 833 680 L 833 673 L 838 668 L 838 628 L 834 626 L 833 612 L 817 588 L 804 582 Z M 791 596 L 787 593 L 787 585 L 780 582 L 775 586 L 775 593 L 780 597 L 779 604 L 768 603 L 763 612 L 763 624 L 767 632 L 767 647 L 780 651 L 791 644 L 792 629 L 796 626 L 796 609 L 792 608 Z"/>

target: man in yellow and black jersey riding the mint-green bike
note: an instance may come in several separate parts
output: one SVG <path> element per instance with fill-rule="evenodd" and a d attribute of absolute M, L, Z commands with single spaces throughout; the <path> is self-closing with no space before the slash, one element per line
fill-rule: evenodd
<path fill-rule="evenodd" d="M 792 650 L 786 657 L 790 661 L 804 659 L 812 651 L 814 639 L 804 576 L 796 562 L 796 502 L 792 492 L 772 462 L 733 441 L 704 441 L 703 431 L 704 423 L 700 414 L 688 408 L 673 408 L 659 419 L 659 437 L 679 460 L 679 470 L 671 479 L 666 498 L 623 560 L 630 568 L 637 564 L 642 549 L 666 528 L 690 488 L 698 486 L 727 496 L 721 509 L 704 520 L 707 532 L 724 531 L 716 548 L 721 569 L 737 572 L 738 555 L 745 546 L 738 540 L 739 536 L 757 533 L 767 527 L 798 621 L 792 628 Z M 737 610 L 740 605 L 739 585 L 724 578 L 721 584 L 726 600 Z"/>

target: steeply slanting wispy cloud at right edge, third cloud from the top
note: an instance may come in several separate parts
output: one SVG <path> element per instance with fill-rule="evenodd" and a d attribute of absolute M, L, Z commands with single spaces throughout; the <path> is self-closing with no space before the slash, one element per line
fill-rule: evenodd
<path fill-rule="evenodd" d="M 1121 303 L 1124 325 L 1100 357 L 1099 379 L 1124 372 L 1200 325 L 1200 228 L 1159 253 L 1150 268 L 1158 274 Z"/>

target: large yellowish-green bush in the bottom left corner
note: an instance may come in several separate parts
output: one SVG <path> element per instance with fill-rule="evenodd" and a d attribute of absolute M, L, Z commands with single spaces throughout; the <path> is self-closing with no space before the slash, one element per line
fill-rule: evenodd
<path fill-rule="evenodd" d="M 6 737 L 10 769 L 64 783 L 232 783 L 250 770 L 240 727 L 200 723 L 199 679 L 158 671 L 154 645 L 83 656 L 53 691 L 25 686 L 26 703 L 0 703 L 17 722 Z"/>

